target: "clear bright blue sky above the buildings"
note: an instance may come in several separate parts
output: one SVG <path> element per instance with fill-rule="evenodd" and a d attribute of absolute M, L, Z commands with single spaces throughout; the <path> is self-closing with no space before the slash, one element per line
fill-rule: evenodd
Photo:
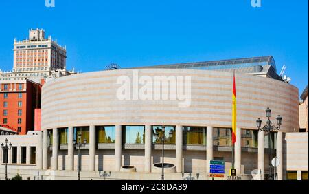
<path fill-rule="evenodd" d="M 1 1 L 0 68 L 14 38 L 43 28 L 67 45 L 67 67 L 135 67 L 272 55 L 299 92 L 308 85 L 308 0 Z"/>

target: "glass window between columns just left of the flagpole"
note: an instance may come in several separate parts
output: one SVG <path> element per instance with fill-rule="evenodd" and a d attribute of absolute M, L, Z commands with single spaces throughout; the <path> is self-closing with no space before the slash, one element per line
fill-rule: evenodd
<path fill-rule="evenodd" d="M 213 140 L 216 146 L 231 146 L 231 128 L 214 127 Z"/>

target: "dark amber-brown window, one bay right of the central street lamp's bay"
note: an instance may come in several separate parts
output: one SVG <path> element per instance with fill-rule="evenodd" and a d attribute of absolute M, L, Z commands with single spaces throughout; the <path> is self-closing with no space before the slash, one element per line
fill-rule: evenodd
<path fill-rule="evenodd" d="M 206 145 L 206 127 L 183 127 L 183 144 Z"/>

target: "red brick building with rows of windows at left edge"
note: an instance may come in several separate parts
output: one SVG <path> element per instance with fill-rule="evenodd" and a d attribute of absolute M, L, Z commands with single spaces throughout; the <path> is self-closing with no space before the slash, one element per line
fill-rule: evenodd
<path fill-rule="evenodd" d="M 0 80 L 0 125 L 26 134 L 34 130 L 34 109 L 41 108 L 41 84 Z"/>

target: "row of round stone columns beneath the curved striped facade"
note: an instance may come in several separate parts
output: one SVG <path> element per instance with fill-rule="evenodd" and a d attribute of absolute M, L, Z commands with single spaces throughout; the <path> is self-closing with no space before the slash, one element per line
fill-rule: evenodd
<path fill-rule="evenodd" d="M 176 171 L 183 172 L 183 126 L 176 125 Z M 209 161 L 214 159 L 213 149 L 213 127 L 207 127 L 207 172 L 209 171 Z M 122 125 L 115 126 L 115 171 L 120 171 L 122 167 Z M 58 170 L 58 129 L 53 129 L 52 145 L 52 164 L 53 170 Z M 277 133 L 277 157 L 282 161 L 282 132 Z M 235 169 L 241 172 L 241 129 L 236 128 L 235 144 Z M 47 169 L 47 152 L 48 152 L 48 134 L 45 130 L 43 133 L 43 169 Z M 152 155 L 152 126 L 145 126 L 145 172 L 151 172 L 151 155 Z M 74 145 L 73 145 L 73 127 L 68 128 L 68 165 L 67 170 L 73 171 L 74 164 Z M 264 180 L 264 133 L 258 133 L 258 170 L 262 173 Z M 277 166 L 278 180 L 282 180 L 282 162 Z M 95 171 L 95 126 L 89 127 L 89 171 Z M 243 173 L 243 172 L 241 172 Z"/>

